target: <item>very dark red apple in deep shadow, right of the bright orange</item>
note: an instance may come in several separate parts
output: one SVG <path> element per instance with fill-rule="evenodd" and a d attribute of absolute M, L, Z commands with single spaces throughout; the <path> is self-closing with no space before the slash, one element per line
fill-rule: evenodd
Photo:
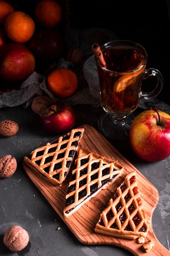
<path fill-rule="evenodd" d="M 29 48 L 42 60 L 57 61 L 65 52 L 63 34 L 55 29 L 37 29 L 30 40 Z"/>

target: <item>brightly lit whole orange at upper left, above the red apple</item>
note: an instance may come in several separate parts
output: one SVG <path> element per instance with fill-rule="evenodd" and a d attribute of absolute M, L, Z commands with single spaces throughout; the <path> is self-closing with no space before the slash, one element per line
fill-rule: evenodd
<path fill-rule="evenodd" d="M 15 43 L 26 43 L 35 31 L 34 20 L 23 11 L 13 11 L 4 22 L 7 36 Z"/>

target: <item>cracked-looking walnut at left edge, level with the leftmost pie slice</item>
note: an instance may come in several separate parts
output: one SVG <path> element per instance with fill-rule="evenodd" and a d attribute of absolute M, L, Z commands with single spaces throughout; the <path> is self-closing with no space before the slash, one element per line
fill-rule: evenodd
<path fill-rule="evenodd" d="M 0 157 L 0 177 L 8 178 L 15 173 L 17 169 L 17 161 L 11 155 Z"/>

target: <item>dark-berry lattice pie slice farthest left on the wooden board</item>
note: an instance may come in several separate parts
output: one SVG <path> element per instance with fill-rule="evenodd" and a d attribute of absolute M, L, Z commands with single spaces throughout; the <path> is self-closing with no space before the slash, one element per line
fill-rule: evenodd
<path fill-rule="evenodd" d="M 33 150 L 28 157 L 24 157 L 24 163 L 53 184 L 60 185 L 72 166 L 83 132 L 84 128 L 72 129 L 45 146 Z"/>

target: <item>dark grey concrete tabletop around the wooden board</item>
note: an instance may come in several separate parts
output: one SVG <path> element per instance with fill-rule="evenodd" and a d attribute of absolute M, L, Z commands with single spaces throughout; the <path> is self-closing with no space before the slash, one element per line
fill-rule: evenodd
<path fill-rule="evenodd" d="M 76 125 L 90 124 L 97 128 L 101 108 L 74 106 Z M 17 159 L 17 170 L 6 179 L 0 178 L 0 255 L 2 256 L 130 256 L 116 246 L 83 245 L 22 168 L 25 155 L 54 139 L 41 128 L 39 116 L 31 108 L 22 106 L 0 109 L 0 121 L 16 121 L 19 132 L 13 137 L 0 136 L 0 157 L 10 154 Z M 59 136 L 59 135 L 57 135 Z M 159 203 L 153 213 L 153 230 L 160 243 L 169 248 L 170 241 L 170 157 L 155 163 L 139 159 L 129 140 L 110 141 L 159 191 Z M 3 243 L 4 232 L 11 225 L 20 225 L 28 231 L 29 243 L 20 252 L 11 252 Z M 58 228 L 60 228 L 58 230 Z"/>

